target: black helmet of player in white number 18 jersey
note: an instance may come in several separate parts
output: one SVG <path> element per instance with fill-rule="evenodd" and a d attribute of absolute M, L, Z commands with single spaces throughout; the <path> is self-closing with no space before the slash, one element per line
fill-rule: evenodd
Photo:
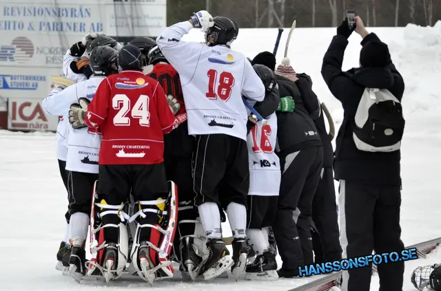
<path fill-rule="evenodd" d="M 205 31 L 207 45 L 230 46 L 239 34 L 237 23 L 227 17 L 214 17 L 214 25 Z"/>

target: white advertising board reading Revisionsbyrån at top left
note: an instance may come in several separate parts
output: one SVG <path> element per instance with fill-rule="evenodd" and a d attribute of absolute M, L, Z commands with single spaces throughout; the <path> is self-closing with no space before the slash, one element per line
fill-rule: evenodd
<path fill-rule="evenodd" d="M 0 67 L 61 67 L 89 32 L 158 36 L 166 0 L 0 0 Z"/>

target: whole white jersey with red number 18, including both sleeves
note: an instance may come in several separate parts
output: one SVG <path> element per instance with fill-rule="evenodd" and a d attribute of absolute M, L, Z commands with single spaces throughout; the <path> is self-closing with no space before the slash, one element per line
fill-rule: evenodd
<path fill-rule="evenodd" d="M 223 133 L 247 140 L 247 109 L 242 96 L 262 101 L 265 87 L 240 52 L 225 45 L 181 41 L 193 28 L 183 21 L 156 39 L 181 78 L 190 135 Z"/>

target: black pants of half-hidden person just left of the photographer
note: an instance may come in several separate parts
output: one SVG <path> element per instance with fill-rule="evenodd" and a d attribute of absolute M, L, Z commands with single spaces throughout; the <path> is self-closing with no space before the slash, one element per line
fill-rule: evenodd
<path fill-rule="evenodd" d="M 340 260 L 342 248 L 332 167 L 322 168 L 316 195 L 312 201 L 312 221 L 316 226 L 314 233 L 311 233 L 314 261 L 322 263 Z"/>

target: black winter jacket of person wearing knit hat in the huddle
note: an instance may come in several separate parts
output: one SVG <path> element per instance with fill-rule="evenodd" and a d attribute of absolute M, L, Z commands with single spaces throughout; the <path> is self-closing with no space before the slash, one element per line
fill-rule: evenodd
<path fill-rule="evenodd" d="M 288 155 L 309 147 L 320 147 L 322 142 L 314 124 L 320 116 L 320 104 L 312 91 L 311 78 L 298 74 L 294 83 L 283 76 L 277 76 L 280 98 L 292 96 L 296 107 L 294 112 L 277 111 L 276 152 L 279 156 Z"/>

